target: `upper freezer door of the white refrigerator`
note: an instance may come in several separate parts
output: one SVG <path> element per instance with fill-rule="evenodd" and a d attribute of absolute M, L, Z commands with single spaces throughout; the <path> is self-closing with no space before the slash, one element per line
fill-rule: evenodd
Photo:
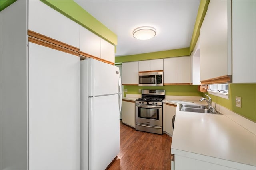
<path fill-rule="evenodd" d="M 88 96 L 118 94 L 119 68 L 88 59 Z"/>

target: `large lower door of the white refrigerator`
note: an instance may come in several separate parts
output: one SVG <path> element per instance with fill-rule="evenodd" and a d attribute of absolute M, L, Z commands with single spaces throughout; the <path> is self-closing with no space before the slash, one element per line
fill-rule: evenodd
<path fill-rule="evenodd" d="M 118 94 L 89 97 L 89 169 L 103 170 L 120 151 Z"/>

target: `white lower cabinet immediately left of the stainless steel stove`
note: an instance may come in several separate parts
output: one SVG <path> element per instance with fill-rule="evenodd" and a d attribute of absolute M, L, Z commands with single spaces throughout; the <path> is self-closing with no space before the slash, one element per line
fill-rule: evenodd
<path fill-rule="evenodd" d="M 135 128 L 135 102 L 122 100 L 122 122 Z"/>

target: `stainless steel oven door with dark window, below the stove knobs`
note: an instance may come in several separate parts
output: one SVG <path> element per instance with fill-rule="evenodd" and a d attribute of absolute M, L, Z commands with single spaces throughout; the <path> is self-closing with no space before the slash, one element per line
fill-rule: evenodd
<path fill-rule="evenodd" d="M 163 107 L 160 105 L 136 104 L 135 122 L 162 126 Z"/>

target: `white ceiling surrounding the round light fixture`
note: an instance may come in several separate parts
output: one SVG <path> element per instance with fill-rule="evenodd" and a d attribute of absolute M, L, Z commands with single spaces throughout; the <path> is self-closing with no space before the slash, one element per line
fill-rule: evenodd
<path fill-rule="evenodd" d="M 74 0 L 118 37 L 116 56 L 189 47 L 200 0 Z M 156 29 L 156 36 L 138 40 L 132 31 Z"/>

